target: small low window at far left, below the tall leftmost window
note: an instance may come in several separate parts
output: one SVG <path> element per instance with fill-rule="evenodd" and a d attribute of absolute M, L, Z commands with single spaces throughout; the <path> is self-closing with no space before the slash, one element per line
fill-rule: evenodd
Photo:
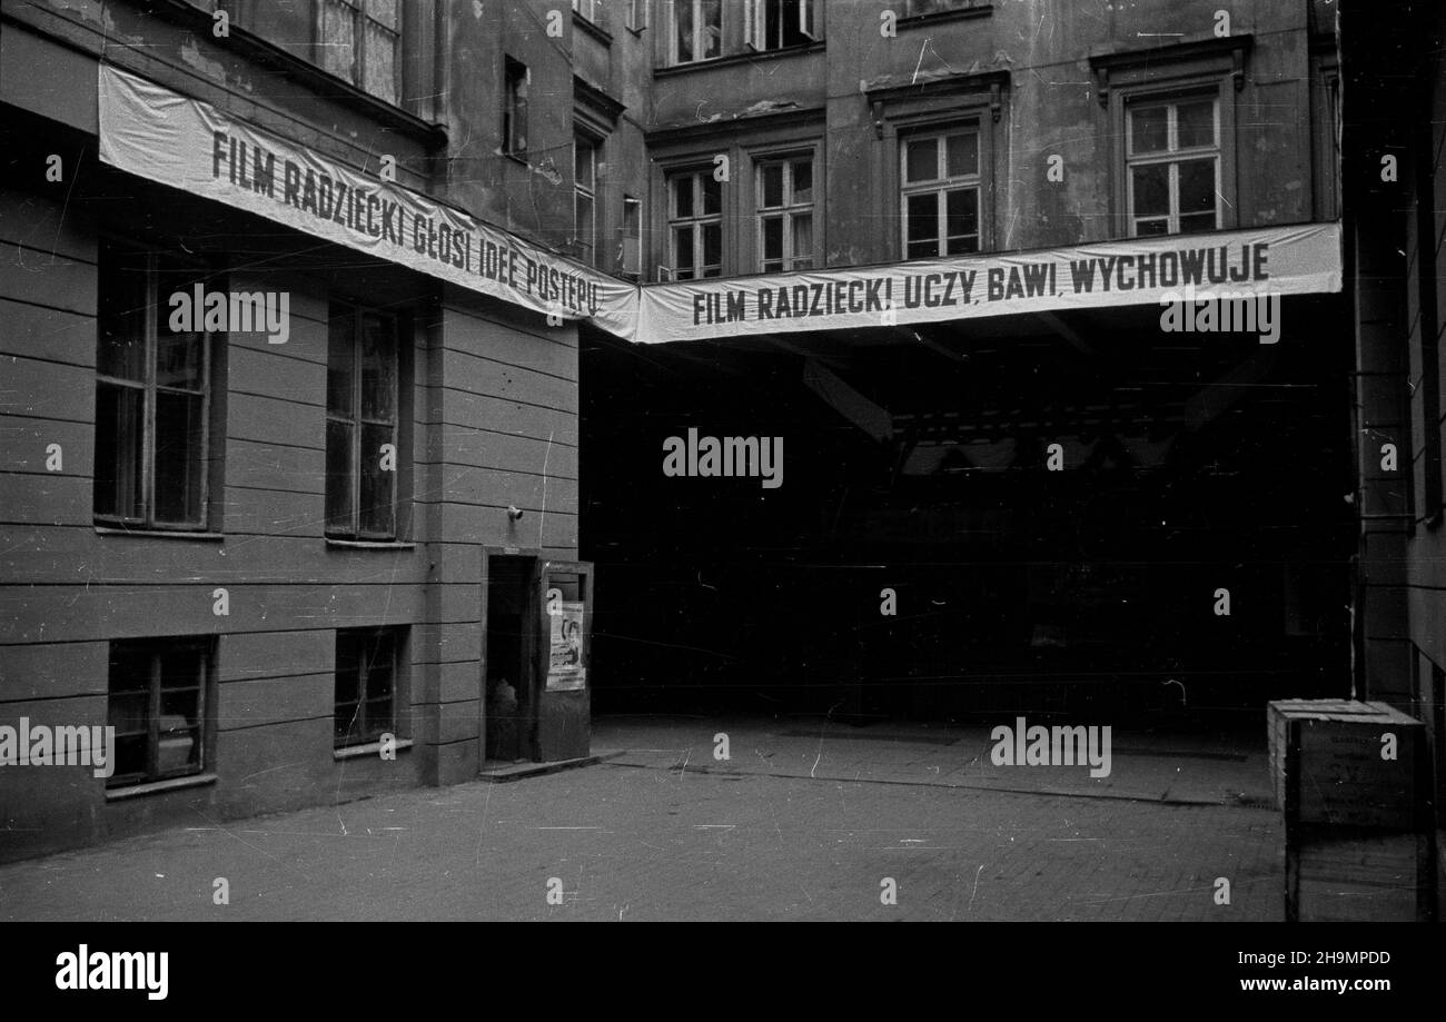
<path fill-rule="evenodd" d="M 107 723 L 116 729 L 116 770 L 107 786 L 207 769 L 211 650 L 210 639 L 110 643 Z"/>

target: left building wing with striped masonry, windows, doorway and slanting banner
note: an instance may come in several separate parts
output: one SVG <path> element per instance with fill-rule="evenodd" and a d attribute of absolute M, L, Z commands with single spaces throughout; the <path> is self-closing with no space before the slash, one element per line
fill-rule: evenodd
<path fill-rule="evenodd" d="M 0 856 L 586 747 L 586 688 L 544 687 L 539 645 L 547 590 L 580 619 L 590 584 L 591 270 L 549 29 L 429 0 L 0 7 Z M 562 286 L 496 296 L 519 267 Z M 43 765 L 38 736 L 74 763 L 58 729 L 103 726 L 108 773 Z"/>

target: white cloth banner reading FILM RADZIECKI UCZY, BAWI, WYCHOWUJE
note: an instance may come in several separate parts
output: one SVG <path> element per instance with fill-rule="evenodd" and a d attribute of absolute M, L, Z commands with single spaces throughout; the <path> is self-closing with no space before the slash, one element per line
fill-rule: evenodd
<path fill-rule="evenodd" d="M 1340 226 L 1100 241 L 1044 252 L 688 280 L 642 289 L 641 343 L 1340 291 Z M 1209 292 L 1209 295 L 1206 293 Z"/>

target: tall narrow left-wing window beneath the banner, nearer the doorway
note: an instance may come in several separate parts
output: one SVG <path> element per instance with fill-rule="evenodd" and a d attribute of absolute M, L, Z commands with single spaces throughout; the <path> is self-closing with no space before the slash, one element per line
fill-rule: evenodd
<path fill-rule="evenodd" d="M 327 340 L 327 535 L 396 538 L 396 321 L 333 308 Z"/>

